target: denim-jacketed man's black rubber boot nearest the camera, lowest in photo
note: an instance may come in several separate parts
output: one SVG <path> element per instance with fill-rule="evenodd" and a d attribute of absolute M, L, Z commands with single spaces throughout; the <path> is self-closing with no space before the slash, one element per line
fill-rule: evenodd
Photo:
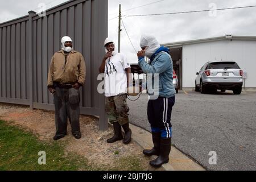
<path fill-rule="evenodd" d="M 169 162 L 169 154 L 171 151 L 171 138 L 160 139 L 160 155 L 155 160 L 151 160 L 152 167 L 161 167 L 162 164 Z"/>

